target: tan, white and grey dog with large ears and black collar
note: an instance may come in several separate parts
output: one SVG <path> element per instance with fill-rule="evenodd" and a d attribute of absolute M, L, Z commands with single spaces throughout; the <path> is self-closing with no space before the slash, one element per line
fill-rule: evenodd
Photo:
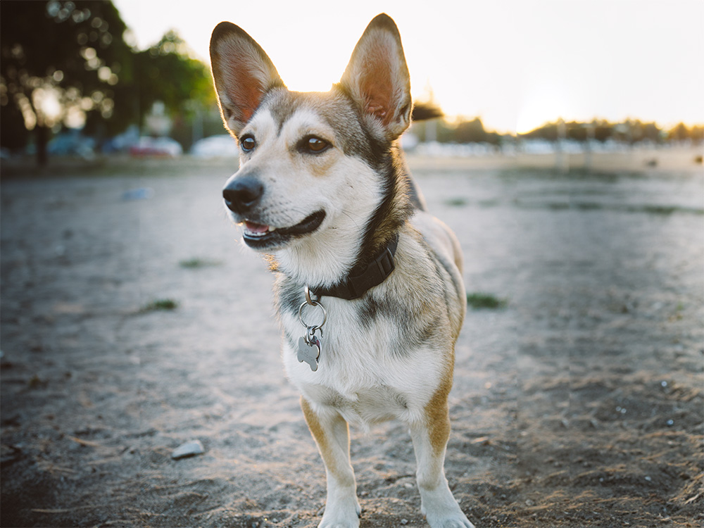
<path fill-rule="evenodd" d="M 319 526 L 359 526 L 348 422 L 397 419 L 429 525 L 472 527 L 444 472 L 462 254 L 403 161 L 413 103 L 396 24 L 374 18 L 325 93 L 289 91 L 232 23 L 213 30 L 210 59 L 240 149 L 222 196 L 244 244 L 275 271 L 284 367 L 325 463 Z"/>

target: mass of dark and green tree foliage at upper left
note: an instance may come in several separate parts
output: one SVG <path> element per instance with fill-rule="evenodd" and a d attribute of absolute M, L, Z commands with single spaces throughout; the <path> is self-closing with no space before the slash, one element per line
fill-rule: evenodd
<path fill-rule="evenodd" d="M 132 49 L 111 1 L 3 0 L 0 10 L 0 142 L 21 148 L 34 133 L 40 163 L 62 124 L 110 137 L 142 125 L 155 101 L 187 118 L 215 105 L 206 65 L 178 35 Z"/>

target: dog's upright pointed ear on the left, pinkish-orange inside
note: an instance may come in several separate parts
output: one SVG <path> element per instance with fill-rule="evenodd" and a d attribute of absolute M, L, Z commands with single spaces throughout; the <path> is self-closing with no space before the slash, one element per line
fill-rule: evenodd
<path fill-rule="evenodd" d="M 210 65 L 220 113 L 239 135 L 270 89 L 285 88 L 271 59 L 239 26 L 221 22 L 210 37 Z"/>

